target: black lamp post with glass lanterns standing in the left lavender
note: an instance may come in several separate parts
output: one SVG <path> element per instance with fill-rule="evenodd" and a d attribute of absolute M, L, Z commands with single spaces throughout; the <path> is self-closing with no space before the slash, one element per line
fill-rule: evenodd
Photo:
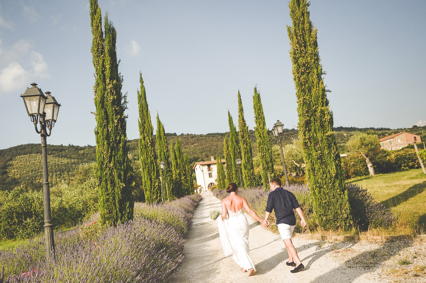
<path fill-rule="evenodd" d="M 35 131 L 41 136 L 41 154 L 43 158 L 43 205 L 44 205 L 44 244 L 46 246 L 46 258 L 54 258 L 55 241 L 53 240 L 53 222 L 50 215 L 50 191 L 49 175 L 47 173 L 47 142 L 46 137 L 50 136 L 52 128 L 58 118 L 60 104 L 55 97 L 46 91 L 46 96 L 37 84 L 33 82 L 31 88 L 27 88 L 20 96 L 23 98 L 25 107 L 34 123 Z M 37 123 L 40 122 L 40 128 Z M 49 133 L 47 133 L 49 129 Z"/>

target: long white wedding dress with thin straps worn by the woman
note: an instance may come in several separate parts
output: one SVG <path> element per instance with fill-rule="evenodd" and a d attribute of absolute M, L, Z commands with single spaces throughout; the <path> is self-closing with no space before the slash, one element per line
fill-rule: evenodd
<path fill-rule="evenodd" d="M 226 204 L 225 204 L 226 206 Z M 250 255 L 248 255 L 248 221 L 243 209 L 233 212 L 228 208 L 228 216 L 222 221 L 217 218 L 219 237 L 225 257 L 232 255 L 233 260 L 243 269 L 254 268 Z"/>

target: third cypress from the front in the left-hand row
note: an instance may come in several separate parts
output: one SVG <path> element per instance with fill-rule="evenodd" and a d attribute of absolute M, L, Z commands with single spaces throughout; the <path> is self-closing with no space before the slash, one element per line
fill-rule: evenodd
<path fill-rule="evenodd" d="M 170 200 L 176 198 L 176 192 L 173 190 L 173 168 L 172 163 L 170 162 L 170 151 L 169 145 L 167 143 L 166 133 L 164 131 L 164 125 L 160 121 L 160 117 L 157 113 L 157 132 L 156 132 L 156 142 L 158 149 L 158 163 L 163 161 L 165 164 L 163 171 L 163 194 L 167 197 L 167 189 L 169 191 Z M 161 190 L 161 187 L 160 187 Z M 158 198 L 160 201 L 160 197 Z"/>

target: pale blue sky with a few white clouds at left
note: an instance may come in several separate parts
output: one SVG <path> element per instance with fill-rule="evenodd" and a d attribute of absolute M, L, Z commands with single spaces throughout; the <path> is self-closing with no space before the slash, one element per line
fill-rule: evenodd
<path fill-rule="evenodd" d="M 117 30 L 127 137 L 138 139 L 139 71 L 156 129 L 224 133 L 253 88 L 267 127 L 296 128 L 288 1 L 99 0 Z M 426 1 L 312 0 L 334 126 L 426 125 Z M 62 105 L 48 144 L 95 145 L 89 0 L 0 0 L 0 149 L 40 143 L 19 97 L 32 82 Z"/>

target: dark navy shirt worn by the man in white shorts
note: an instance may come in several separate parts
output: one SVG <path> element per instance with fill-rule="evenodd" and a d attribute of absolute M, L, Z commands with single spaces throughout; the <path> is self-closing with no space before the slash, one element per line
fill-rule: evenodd
<path fill-rule="evenodd" d="M 293 209 L 298 207 L 300 205 L 294 194 L 279 187 L 269 193 L 265 210 L 269 213 L 275 210 L 276 224 L 296 225 Z"/>

